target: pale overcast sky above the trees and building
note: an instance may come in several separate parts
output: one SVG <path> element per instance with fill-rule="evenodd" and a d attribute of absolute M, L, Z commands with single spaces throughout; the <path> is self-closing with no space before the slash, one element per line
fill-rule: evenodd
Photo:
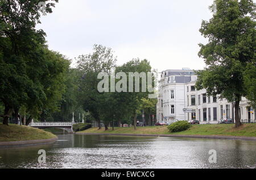
<path fill-rule="evenodd" d="M 212 18 L 213 0 L 60 0 L 37 28 L 49 49 L 74 60 L 92 53 L 93 44 L 110 47 L 117 64 L 146 58 L 158 71 L 203 69 L 197 56 L 207 41 L 199 28 Z M 75 60 L 74 60 L 75 64 Z"/>

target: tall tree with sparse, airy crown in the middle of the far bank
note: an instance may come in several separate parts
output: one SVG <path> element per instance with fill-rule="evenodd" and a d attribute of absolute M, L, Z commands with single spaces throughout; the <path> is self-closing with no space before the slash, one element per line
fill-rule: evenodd
<path fill-rule="evenodd" d="M 78 57 L 77 69 L 81 73 L 79 91 L 84 110 L 89 111 L 90 115 L 96 119 L 100 129 L 101 120 L 105 119 L 106 122 L 105 110 L 110 102 L 106 101 L 108 95 L 98 91 L 98 83 L 101 80 L 97 77 L 101 72 L 110 76 L 110 70 L 115 67 L 116 58 L 113 56 L 111 48 L 94 45 L 93 50 L 92 55 L 81 55 Z M 108 123 L 105 123 L 106 129 L 108 129 L 107 125 Z"/>

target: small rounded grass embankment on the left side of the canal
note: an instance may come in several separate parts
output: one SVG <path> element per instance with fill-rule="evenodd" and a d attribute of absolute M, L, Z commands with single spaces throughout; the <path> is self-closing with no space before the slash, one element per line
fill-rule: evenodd
<path fill-rule="evenodd" d="M 43 140 L 56 137 L 50 132 L 42 129 L 27 127 L 24 125 L 3 125 L 0 124 L 0 142 L 1 141 L 27 141 Z"/>

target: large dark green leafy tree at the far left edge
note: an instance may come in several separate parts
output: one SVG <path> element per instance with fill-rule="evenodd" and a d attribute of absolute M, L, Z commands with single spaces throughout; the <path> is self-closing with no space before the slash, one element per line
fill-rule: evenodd
<path fill-rule="evenodd" d="M 40 23 L 39 2 L 0 1 L 0 99 L 5 105 L 1 116 L 6 125 L 13 112 L 18 118 L 19 108 L 29 99 L 34 99 L 34 104 L 46 99 L 40 84 L 43 68 L 37 70 L 43 66 L 39 55 L 46 48 L 46 34 L 35 29 Z M 53 6 L 48 3 L 46 12 L 52 12 Z"/>

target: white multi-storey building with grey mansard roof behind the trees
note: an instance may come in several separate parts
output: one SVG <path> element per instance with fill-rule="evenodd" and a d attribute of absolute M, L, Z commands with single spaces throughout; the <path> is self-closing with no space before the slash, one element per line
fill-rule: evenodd
<path fill-rule="evenodd" d="M 206 90 L 195 89 L 197 76 L 193 70 L 166 70 L 159 81 L 159 97 L 156 105 L 157 119 L 173 123 L 177 120 L 199 120 L 204 123 L 218 123 L 220 119 L 234 119 L 234 105 L 225 99 L 207 97 Z M 189 108 L 193 112 L 184 113 Z M 255 122 L 255 110 L 247 99 L 240 102 L 242 122 Z"/>

